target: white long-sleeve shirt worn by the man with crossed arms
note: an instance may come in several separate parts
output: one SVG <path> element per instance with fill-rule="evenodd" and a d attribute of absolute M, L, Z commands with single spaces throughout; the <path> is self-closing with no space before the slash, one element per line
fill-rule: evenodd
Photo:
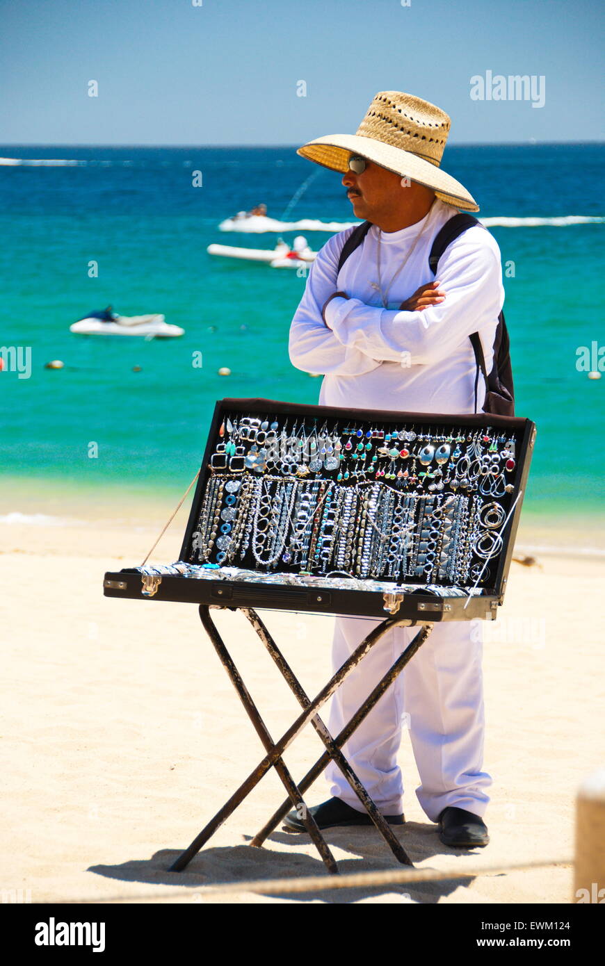
<path fill-rule="evenodd" d="M 325 406 L 400 412 L 474 412 L 475 354 L 469 340 L 478 331 L 485 364 L 492 367 L 498 315 L 504 302 L 500 249 L 480 225 L 453 241 L 437 276 L 428 266 L 435 236 L 456 214 L 436 199 L 430 212 L 408 228 L 380 232 L 373 225 L 336 275 L 342 247 L 354 230 L 333 235 L 320 249 L 306 280 L 290 327 L 290 359 L 298 369 L 322 373 L 319 403 Z M 385 291 L 414 245 L 383 308 L 378 282 L 377 245 L 381 236 L 381 275 Z M 439 281 L 446 298 L 421 312 L 397 306 L 426 282 Z M 332 298 L 335 291 L 349 298 Z M 477 412 L 485 397 L 477 385 Z"/>

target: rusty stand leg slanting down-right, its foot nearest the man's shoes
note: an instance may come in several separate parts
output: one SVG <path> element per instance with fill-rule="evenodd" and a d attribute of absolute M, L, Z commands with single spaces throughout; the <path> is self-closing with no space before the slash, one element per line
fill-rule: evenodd
<path fill-rule="evenodd" d="M 242 608 L 242 612 L 245 614 L 245 617 L 247 617 L 247 619 L 249 620 L 250 624 L 258 634 L 259 638 L 265 644 L 265 647 L 267 648 L 270 655 L 274 659 L 274 663 L 276 664 L 277 668 L 279 668 L 282 676 L 284 677 L 290 690 L 296 696 L 301 707 L 307 708 L 310 704 L 309 697 L 305 694 L 300 681 L 298 680 L 298 678 L 294 674 L 294 671 L 292 670 L 292 668 L 290 668 L 283 654 L 277 647 L 277 644 L 272 638 L 264 622 L 258 616 L 256 611 L 252 610 L 252 608 Z M 389 849 L 394 855 L 395 859 L 397 859 L 398 862 L 402 863 L 402 865 L 409 866 L 410 859 L 405 849 L 401 845 L 401 842 L 395 836 L 394 832 L 390 828 L 389 822 L 387 821 L 385 816 L 376 808 L 375 803 L 366 792 L 365 788 L 361 784 L 359 778 L 357 777 L 353 768 L 345 758 L 344 754 L 340 751 L 339 748 L 336 748 L 336 746 L 334 745 L 331 738 L 331 733 L 326 727 L 326 725 L 324 724 L 324 722 L 322 721 L 322 719 L 319 717 L 319 715 L 315 715 L 315 717 L 311 719 L 311 725 L 313 725 L 317 734 L 319 735 L 322 742 L 324 743 L 326 747 L 326 751 L 329 753 L 332 761 L 335 762 L 335 764 L 338 766 L 338 768 L 344 775 L 345 779 L 349 782 L 349 784 L 353 788 L 353 791 L 360 799 L 361 805 L 367 811 L 368 815 L 370 816 L 372 822 L 380 832 L 381 836 L 385 839 L 385 841 L 389 845 Z"/>

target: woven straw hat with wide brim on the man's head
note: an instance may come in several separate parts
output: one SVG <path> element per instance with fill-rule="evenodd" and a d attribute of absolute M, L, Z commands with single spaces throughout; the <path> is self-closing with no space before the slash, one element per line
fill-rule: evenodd
<path fill-rule="evenodd" d="M 440 168 L 450 119 L 428 100 L 400 91 L 381 91 L 372 100 L 356 134 L 329 134 L 303 144 L 298 155 L 332 171 L 349 170 L 349 157 L 361 155 L 381 167 L 432 188 L 447 205 L 478 212 L 475 199 Z"/>

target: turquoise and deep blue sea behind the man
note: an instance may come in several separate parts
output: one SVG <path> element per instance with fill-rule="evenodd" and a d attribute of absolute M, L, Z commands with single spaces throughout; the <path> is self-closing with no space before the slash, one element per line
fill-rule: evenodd
<path fill-rule="evenodd" d="M 604 153 L 594 144 L 476 146 L 450 147 L 444 159 L 481 217 L 514 219 L 490 230 L 503 264 L 514 263 L 504 309 L 517 414 L 538 427 L 524 517 L 570 522 L 602 506 L 605 378 L 578 371 L 576 352 L 605 343 L 605 225 L 534 227 L 524 219 L 602 216 Z M 93 500 L 119 486 L 125 497 L 174 502 L 199 467 L 216 399 L 317 402 L 320 380 L 294 369 L 287 353 L 303 278 L 212 258 L 206 248 L 273 248 L 274 234 L 223 234 L 218 222 L 261 201 L 280 217 L 313 173 L 289 219 L 354 220 L 341 176 L 290 146 L 4 145 L 0 156 L 85 162 L 0 166 L 0 347 L 31 348 L 29 378 L 10 367 L 0 373 L 0 513 L 19 510 L 10 484 L 24 478 L 39 488 L 40 512 L 45 495 L 62 487 L 90 488 Z M 286 241 L 295 234 L 283 233 Z M 313 248 L 329 238 L 303 234 Z M 92 260 L 96 278 L 88 276 Z M 124 315 L 162 312 L 186 335 L 146 342 L 70 332 L 109 303 Z M 51 359 L 64 368 L 44 368 Z M 230 376 L 218 375 L 222 366 Z"/>

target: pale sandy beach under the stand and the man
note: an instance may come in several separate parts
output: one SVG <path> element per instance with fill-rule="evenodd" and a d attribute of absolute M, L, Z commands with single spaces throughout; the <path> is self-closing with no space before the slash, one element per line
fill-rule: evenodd
<path fill-rule="evenodd" d="M 177 854 L 262 757 L 194 606 L 102 596 L 102 576 L 141 562 L 172 508 L 120 510 L 109 502 L 47 501 L 36 525 L 7 518 L 2 501 L 4 588 L 2 700 L 5 800 L 0 881 L 33 902 L 220 901 L 216 883 L 323 874 L 307 836 L 276 831 L 263 849 L 249 839 L 283 800 L 274 772 L 183 873 Z M 153 510 L 150 507 L 153 506 Z M 115 507 L 115 504 L 114 504 Z M 31 508 L 27 508 L 31 512 Z M 58 518 L 58 519 L 57 519 Z M 180 511 L 153 559 L 178 558 Z M 63 521 L 63 523 L 61 523 Z M 543 546 L 547 529 L 520 531 L 520 550 Z M 571 545 L 513 563 L 504 608 L 484 625 L 487 739 L 492 774 L 490 845 L 455 852 L 418 805 L 418 774 L 404 734 L 400 760 L 407 824 L 397 835 L 416 867 L 488 868 L 558 860 L 548 868 L 418 886 L 312 895 L 254 895 L 262 902 L 568 902 L 574 799 L 604 751 L 596 727 L 602 688 L 597 609 L 605 562 Z M 592 613 L 591 613 L 592 611 Z M 245 683 L 277 736 L 298 705 L 245 619 L 216 613 Z M 307 693 L 329 676 L 331 617 L 262 611 Z M 325 709 L 327 716 L 327 709 Z M 309 727 L 286 753 L 295 779 L 321 753 Z M 318 781 L 307 793 L 328 797 Z M 398 867 L 374 829 L 326 838 L 342 872 Z"/>

